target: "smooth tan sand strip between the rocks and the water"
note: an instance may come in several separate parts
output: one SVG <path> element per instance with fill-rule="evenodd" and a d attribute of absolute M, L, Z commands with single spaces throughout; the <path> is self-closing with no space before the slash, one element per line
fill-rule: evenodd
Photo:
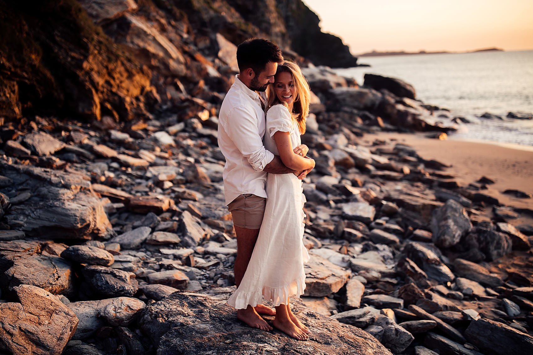
<path fill-rule="evenodd" d="M 502 193 L 507 189 L 533 194 L 533 147 L 512 144 L 491 144 L 475 141 L 437 140 L 424 134 L 379 133 L 367 134 L 365 143 L 374 140 L 408 144 L 426 159 L 450 165 L 446 172 L 455 175 L 462 186 L 482 176 L 494 180 L 484 193 L 497 198 L 501 204 L 533 209 L 533 199 L 520 199 Z"/>

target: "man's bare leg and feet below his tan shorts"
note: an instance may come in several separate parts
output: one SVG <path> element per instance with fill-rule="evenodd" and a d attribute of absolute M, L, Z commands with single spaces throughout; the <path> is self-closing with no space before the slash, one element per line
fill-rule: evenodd
<path fill-rule="evenodd" d="M 235 274 L 235 284 L 237 287 L 239 287 L 241 281 L 243 280 L 244 273 L 246 272 L 246 268 L 248 268 L 248 263 L 252 257 L 255 242 L 257 241 L 257 237 L 259 237 L 259 229 L 246 229 L 235 226 L 235 234 L 237 236 L 237 257 L 235 258 L 235 264 L 233 265 L 233 273 Z M 260 310 L 264 312 L 265 308 L 269 309 L 268 307 L 262 305 Z M 272 310 L 270 311 L 273 313 Z M 252 328 L 272 330 L 272 327 L 269 326 L 268 323 L 261 318 L 257 311 L 250 305 L 246 309 L 238 309 L 237 318 Z"/>

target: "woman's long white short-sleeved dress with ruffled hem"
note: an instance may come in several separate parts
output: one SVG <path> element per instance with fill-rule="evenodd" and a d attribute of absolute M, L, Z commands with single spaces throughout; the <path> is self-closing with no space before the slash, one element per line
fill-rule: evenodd
<path fill-rule="evenodd" d="M 274 133 L 290 132 L 293 149 L 301 144 L 300 132 L 290 112 L 282 104 L 266 112 L 263 144 L 279 155 Z M 294 174 L 268 174 L 266 207 L 252 259 L 243 281 L 228 303 L 236 309 L 263 303 L 286 304 L 290 296 L 301 296 L 305 289 L 304 262 L 309 254 L 303 245 L 305 214 L 302 181 Z"/>

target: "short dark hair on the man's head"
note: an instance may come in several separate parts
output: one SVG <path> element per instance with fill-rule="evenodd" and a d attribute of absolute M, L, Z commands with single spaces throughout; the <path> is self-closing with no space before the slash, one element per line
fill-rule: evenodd
<path fill-rule="evenodd" d="M 261 74 L 266 63 L 281 63 L 283 55 L 276 44 L 262 38 L 249 38 L 237 47 L 239 71 L 252 68 L 255 75 Z"/>

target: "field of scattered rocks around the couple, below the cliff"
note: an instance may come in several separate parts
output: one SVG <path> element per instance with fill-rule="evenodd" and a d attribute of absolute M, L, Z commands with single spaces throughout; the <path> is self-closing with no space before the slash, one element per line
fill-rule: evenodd
<path fill-rule="evenodd" d="M 236 241 L 217 119 L 198 110 L 186 120 L 37 117 L 2 128 L 4 350 L 530 352 L 533 228 L 512 221 L 531 210 L 483 193 L 488 178 L 459 185 L 409 146 L 361 143 L 400 119 L 445 129 L 425 122 L 412 87 L 304 71 L 316 95 L 302 138 L 317 161 L 304 181 L 311 261 L 296 303 L 308 342 L 249 329 L 225 303 Z"/>

